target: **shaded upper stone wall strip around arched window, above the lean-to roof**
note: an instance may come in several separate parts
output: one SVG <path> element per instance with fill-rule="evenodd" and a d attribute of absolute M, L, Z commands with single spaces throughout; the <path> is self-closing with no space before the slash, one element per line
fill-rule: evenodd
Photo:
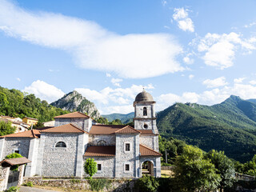
<path fill-rule="evenodd" d="M 90 146 L 97 146 L 99 141 L 105 141 L 106 146 L 115 146 L 115 135 L 110 134 L 90 134 L 89 135 L 89 144 Z"/>

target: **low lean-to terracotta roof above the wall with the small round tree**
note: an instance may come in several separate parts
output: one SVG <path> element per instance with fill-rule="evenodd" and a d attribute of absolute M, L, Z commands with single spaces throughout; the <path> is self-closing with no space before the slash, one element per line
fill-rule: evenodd
<path fill-rule="evenodd" d="M 84 155 L 86 157 L 114 157 L 115 146 L 89 146 Z"/>

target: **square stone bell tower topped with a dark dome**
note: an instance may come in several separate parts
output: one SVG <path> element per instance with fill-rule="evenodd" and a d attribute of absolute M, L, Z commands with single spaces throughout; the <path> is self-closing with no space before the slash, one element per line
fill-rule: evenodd
<path fill-rule="evenodd" d="M 136 130 L 152 130 L 154 134 L 158 134 L 155 102 L 151 94 L 143 89 L 134 101 L 134 129 Z"/>

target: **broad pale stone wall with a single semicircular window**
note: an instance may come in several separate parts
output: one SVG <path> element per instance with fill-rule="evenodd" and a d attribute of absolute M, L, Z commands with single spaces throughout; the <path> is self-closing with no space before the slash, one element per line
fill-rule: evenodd
<path fill-rule="evenodd" d="M 46 134 L 42 158 L 43 176 L 74 176 L 79 134 Z M 55 147 L 65 142 L 66 148 Z"/>

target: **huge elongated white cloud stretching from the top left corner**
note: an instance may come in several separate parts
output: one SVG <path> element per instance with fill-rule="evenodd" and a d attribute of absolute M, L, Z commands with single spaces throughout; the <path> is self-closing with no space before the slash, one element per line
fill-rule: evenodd
<path fill-rule="evenodd" d="M 0 30 L 7 35 L 66 50 L 84 69 L 114 72 L 121 78 L 149 78 L 184 70 L 176 60 L 182 46 L 170 34 L 114 34 L 96 22 L 32 13 L 5 0 L 0 0 L 0 10 Z"/>

